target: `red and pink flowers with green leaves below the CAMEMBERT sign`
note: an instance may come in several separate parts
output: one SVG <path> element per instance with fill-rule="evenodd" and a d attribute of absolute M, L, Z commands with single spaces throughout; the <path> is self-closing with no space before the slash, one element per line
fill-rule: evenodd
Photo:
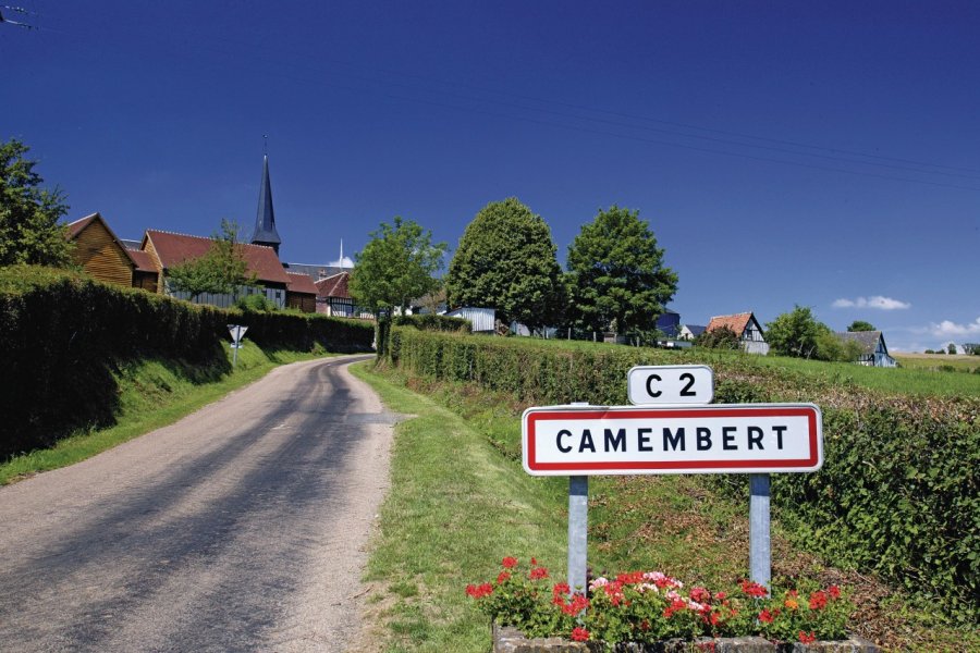
<path fill-rule="evenodd" d="M 773 592 L 743 581 L 731 592 L 684 583 L 659 571 L 600 577 L 588 593 L 552 583 L 535 558 L 525 570 L 505 557 L 495 582 L 470 584 L 466 593 L 492 620 L 528 637 L 562 636 L 575 641 L 652 643 L 673 638 L 760 634 L 809 643 L 846 636 L 853 606 L 836 586 Z"/>

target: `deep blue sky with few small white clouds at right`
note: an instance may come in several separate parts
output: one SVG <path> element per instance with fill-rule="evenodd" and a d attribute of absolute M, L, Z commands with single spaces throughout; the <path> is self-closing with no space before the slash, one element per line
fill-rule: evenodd
<path fill-rule="evenodd" d="M 980 342 L 971 2 L 19 0 L 0 138 L 121 237 L 255 221 L 335 260 L 395 215 L 638 209 L 682 321 L 809 306 L 893 350 Z"/>

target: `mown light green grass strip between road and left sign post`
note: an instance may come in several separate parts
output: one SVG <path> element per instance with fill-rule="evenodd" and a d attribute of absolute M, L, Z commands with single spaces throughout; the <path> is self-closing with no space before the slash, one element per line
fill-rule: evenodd
<path fill-rule="evenodd" d="M 465 419 L 404 383 L 352 367 L 399 424 L 391 490 L 365 580 L 385 651 L 487 651 L 489 624 L 465 594 L 493 580 L 504 556 L 547 560 L 565 576 L 564 479 L 539 479 L 495 452 Z"/>

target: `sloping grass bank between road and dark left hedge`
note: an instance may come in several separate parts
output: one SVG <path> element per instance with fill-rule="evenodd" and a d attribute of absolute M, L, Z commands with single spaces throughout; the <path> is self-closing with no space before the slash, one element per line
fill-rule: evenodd
<path fill-rule="evenodd" d="M 231 349 L 228 350 L 231 364 Z M 238 350 L 230 374 L 218 366 L 200 368 L 175 360 L 142 360 L 123 366 L 117 373 L 120 410 L 117 422 L 105 429 L 85 429 L 59 440 L 50 448 L 35 449 L 0 464 L 0 485 L 66 467 L 90 458 L 127 440 L 171 424 L 229 392 L 252 383 L 272 368 L 318 358 L 320 355 L 289 350 L 264 352 L 247 342 Z"/>

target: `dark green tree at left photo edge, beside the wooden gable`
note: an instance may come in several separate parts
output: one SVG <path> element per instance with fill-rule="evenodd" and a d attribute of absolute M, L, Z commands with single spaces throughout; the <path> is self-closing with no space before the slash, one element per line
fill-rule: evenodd
<path fill-rule="evenodd" d="M 28 263 L 69 267 L 74 244 L 58 221 L 68 212 L 64 195 L 40 188 L 36 161 L 16 139 L 0 145 L 0 266 Z"/>

